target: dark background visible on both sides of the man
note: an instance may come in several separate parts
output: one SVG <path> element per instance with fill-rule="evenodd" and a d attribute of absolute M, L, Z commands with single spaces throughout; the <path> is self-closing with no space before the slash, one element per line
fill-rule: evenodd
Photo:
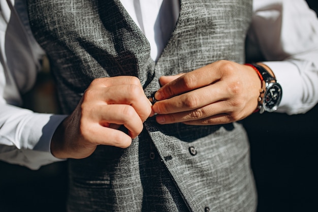
<path fill-rule="evenodd" d="M 307 2 L 318 11 L 317 0 Z M 38 81 L 24 97 L 26 107 L 55 112 L 54 86 L 46 68 Z M 318 211 L 318 106 L 291 116 L 255 113 L 243 124 L 250 139 L 258 212 Z M 0 162 L 0 212 L 65 212 L 66 196 L 66 162 L 37 171 Z"/>

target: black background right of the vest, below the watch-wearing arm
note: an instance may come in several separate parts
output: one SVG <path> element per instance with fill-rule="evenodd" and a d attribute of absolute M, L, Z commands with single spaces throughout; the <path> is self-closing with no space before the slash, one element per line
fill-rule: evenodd
<path fill-rule="evenodd" d="M 318 1 L 307 3 L 317 13 Z M 318 105 L 306 114 L 253 114 L 243 124 L 258 212 L 318 211 Z"/>

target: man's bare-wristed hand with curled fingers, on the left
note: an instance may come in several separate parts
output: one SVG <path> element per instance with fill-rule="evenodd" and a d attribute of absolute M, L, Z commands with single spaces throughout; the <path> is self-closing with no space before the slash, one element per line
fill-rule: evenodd
<path fill-rule="evenodd" d="M 137 137 L 151 113 L 140 81 L 132 76 L 91 82 L 74 112 L 56 129 L 51 153 L 56 158 L 86 158 L 97 145 L 125 148 Z M 118 130 L 123 125 L 128 134 Z"/>

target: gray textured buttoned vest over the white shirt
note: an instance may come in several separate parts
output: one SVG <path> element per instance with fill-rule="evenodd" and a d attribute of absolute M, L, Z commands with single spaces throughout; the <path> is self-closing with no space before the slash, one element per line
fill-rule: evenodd
<path fill-rule="evenodd" d="M 244 62 L 251 1 L 182 0 L 155 63 L 150 46 L 118 0 L 28 0 L 33 33 L 46 50 L 63 112 L 94 78 L 137 76 L 150 97 L 158 78 L 219 59 Z M 122 129 L 124 130 L 124 129 Z M 130 147 L 99 146 L 69 160 L 69 211 L 255 211 L 249 145 L 238 123 L 144 123 Z"/>

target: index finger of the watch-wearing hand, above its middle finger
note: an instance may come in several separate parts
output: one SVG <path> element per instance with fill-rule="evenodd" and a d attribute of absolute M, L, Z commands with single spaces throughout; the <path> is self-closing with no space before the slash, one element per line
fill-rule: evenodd
<path fill-rule="evenodd" d="M 156 100 L 169 99 L 171 97 L 189 92 L 213 83 L 220 78 L 220 74 L 213 66 L 205 66 L 195 71 L 186 73 L 177 79 L 165 84 L 155 93 Z"/>

